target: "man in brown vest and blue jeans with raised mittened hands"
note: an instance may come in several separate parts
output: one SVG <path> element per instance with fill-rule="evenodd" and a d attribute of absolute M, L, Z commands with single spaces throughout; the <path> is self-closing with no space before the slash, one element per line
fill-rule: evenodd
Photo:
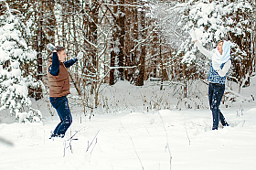
<path fill-rule="evenodd" d="M 51 134 L 52 137 L 63 138 L 72 123 L 67 95 L 69 91 L 69 72 L 67 68 L 76 63 L 83 54 L 80 52 L 77 58 L 65 61 L 67 55 L 65 48 L 48 44 L 47 48 L 53 52 L 48 61 L 49 101 L 59 114 L 60 122 Z"/>

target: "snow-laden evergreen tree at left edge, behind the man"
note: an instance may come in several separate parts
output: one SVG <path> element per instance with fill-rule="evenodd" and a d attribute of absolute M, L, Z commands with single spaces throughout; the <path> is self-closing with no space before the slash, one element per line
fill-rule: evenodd
<path fill-rule="evenodd" d="M 27 46 L 24 38 L 31 36 L 27 25 L 17 11 L 11 14 L 5 3 L 5 14 L 0 16 L 0 111 L 9 109 L 12 115 L 21 117 L 20 112 L 30 110 L 25 118 L 33 121 L 40 112 L 30 108 L 28 87 L 40 87 L 41 82 L 33 77 L 37 52 Z"/>

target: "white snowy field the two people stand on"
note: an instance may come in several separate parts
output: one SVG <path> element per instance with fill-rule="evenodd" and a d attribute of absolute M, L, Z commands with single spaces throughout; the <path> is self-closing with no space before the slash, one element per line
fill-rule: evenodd
<path fill-rule="evenodd" d="M 251 94 L 256 96 L 255 84 L 241 91 L 247 97 Z M 221 105 L 230 126 L 218 131 L 211 131 L 211 112 L 207 108 L 102 113 L 95 114 L 91 121 L 88 116 L 80 117 L 79 109 L 71 109 L 70 129 L 64 139 L 54 141 L 48 137 L 59 117 L 50 116 L 47 105 L 41 108 L 42 122 L 5 123 L 10 118 L 2 118 L 0 137 L 13 146 L 0 143 L 1 170 L 254 170 L 256 167 L 255 101 L 237 101 L 229 108 Z M 70 141 L 74 133 L 73 139 L 78 140 Z"/>

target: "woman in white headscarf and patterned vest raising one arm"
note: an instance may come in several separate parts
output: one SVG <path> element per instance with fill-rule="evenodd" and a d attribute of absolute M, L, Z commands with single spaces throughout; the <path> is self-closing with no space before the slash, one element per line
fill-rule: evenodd
<path fill-rule="evenodd" d="M 211 59 L 210 69 L 208 71 L 208 101 L 212 112 L 213 126 L 212 130 L 218 130 L 219 121 L 223 126 L 229 126 L 225 121 L 223 114 L 219 110 L 219 104 L 225 90 L 226 74 L 231 66 L 230 44 L 228 41 L 219 41 L 217 48 L 212 51 L 203 48 L 197 41 L 196 34 L 192 29 L 189 32 L 192 40 L 195 41 L 197 48 L 206 57 Z"/>

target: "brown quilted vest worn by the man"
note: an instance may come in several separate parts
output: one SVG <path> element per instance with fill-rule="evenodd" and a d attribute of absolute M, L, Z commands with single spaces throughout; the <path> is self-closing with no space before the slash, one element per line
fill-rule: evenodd
<path fill-rule="evenodd" d="M 48 61 L 48 68 L 52 65 L 52 58 Z M 47 69 L 48 69 L 47 68 Z M 53 76 L 48 72 L 49 97 L 67 96 L 69 91 L 69 72 L 62 62 L 59 62 L 59 75 Z"/>

